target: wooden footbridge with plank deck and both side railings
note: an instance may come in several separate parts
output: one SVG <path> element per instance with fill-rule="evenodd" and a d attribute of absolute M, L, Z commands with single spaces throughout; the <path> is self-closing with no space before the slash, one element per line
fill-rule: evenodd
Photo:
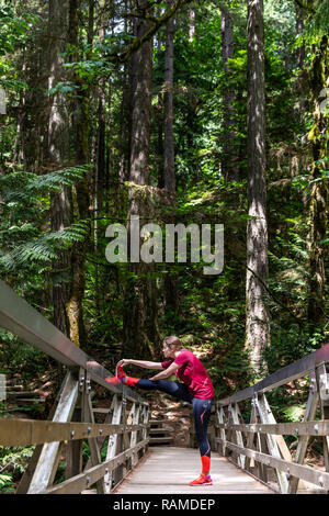
<path fill-rule="evenodd" d="M 146 400 L 126 385 L 109 385 L 109 371 L 3 281 L 0 327 L 67 368 L 49 419 L 0 419 L 0 446 L 35 445 L 18 494 L 328 493 L 329 345 L 216 402 L 211 418 L 214 484 L 191 487 L 189 481 L 200 473 L 198 450 L 151 446 Z M 277 423 L 266 394 L 300 379 L 309 388 L 303 420 Z M 106 390 L 110 407 L 93 407 L 93 383 Z M 298 439 L 294 457 L 283 436 Z M 304 463 L 310 438 L 322 446 L 324 463 L 317 468 Z M 64 459 L 65 478 L 58 474 Z"/>

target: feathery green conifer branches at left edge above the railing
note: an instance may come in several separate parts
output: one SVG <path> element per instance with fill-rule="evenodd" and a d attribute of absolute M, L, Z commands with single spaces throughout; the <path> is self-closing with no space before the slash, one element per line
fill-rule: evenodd
<path fill-rule="evenodd" d="M 81 242 L 88 221 L 79 221 L 57 232 L 44 218 L 49 193 L 78 181 L 88 167 L 69 167 L 44 176 L 12 171 L 0 177 L 3 204 L 0 206 L 0 272 L 2 274 L 42 273 L 49 270 L 63 249 Z"/>

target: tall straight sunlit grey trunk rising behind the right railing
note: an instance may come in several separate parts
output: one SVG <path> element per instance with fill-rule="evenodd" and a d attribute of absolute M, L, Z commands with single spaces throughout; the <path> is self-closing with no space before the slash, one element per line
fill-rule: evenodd
<path fill-rule="evenodd" d="M 268 277 L 265 186 L 265 96 L 263 1 L 248 2 L 248 213 L 246 345 L 256 373 L 265 372 L 262 352 L 269 346 L 270 324 L 262 282 Z"/>

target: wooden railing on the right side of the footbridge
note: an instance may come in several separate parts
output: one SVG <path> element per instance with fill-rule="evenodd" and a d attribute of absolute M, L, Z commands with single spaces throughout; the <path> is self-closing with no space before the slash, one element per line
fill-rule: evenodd
<path fill-rule="evenodd" d="M 298 484 L 299 490 L 308 486 L 310 491 L 314 487 L 317 492 L 328 492 L 329 375 L 326 368 L 328 363 L 329 345 L 280 369 L 257 384 L 218 401 L 216 403 L 218 451 L 279 493 L 295 494 Z M 309 389 L 304 419 L 296 423 L 277 423 L 265 392 L 297 379 L 304 379 Z M 250 419 L 246 423 L 242 414 L 246 418 L 246 414 L 249 413 Z M 298 439 L 294 458 L 283 437 L 292 435 Z M 325 464 L 322 469 L 304 464 L 310 436 L 321 436 Z"/>

